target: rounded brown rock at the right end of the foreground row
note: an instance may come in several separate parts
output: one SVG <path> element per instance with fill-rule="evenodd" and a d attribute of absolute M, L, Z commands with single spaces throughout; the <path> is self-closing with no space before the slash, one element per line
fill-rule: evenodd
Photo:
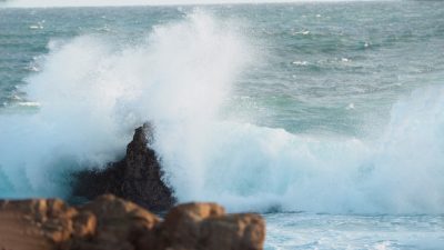
<path fill-rule="evenodd" d="M 173 208 L 161 226 L 159 249 L 260 250 L 265 223 L 258 214 L 226 216 L 215 203 Z"/>

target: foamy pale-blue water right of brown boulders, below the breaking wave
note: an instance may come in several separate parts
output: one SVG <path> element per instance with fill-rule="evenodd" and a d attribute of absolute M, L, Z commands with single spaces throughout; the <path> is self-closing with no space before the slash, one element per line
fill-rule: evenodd
<path fill-rule="evenodd" d="M 265 249 L 442 249 L 443 217 L 271 213 Z"/>

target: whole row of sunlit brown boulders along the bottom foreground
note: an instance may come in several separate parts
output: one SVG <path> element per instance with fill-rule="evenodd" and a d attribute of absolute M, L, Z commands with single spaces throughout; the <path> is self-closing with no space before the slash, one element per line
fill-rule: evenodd
<path fill-rule="evenodd" d="M 82 207 L 61 200 L 0 201 L 0 249 L 261 250 L 265 223 L 215 203 L 178 206 L 162 221 L 135 203 L 102 196 Z"/>

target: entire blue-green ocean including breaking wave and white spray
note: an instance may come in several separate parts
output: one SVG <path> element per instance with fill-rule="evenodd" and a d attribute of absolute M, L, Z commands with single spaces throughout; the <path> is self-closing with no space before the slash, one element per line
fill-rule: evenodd
<path fill-rule="evenodd" d="M 266 250 L 444 249 L 444 3 L 0 8 L 0 198 L 61 197 L 149 121 L 181 202 Z"/>

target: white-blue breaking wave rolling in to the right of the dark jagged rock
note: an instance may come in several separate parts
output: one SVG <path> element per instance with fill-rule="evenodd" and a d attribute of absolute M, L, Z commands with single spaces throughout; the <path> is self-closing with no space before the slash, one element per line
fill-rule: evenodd
<path fill-rule="evenodd" d="M 159 131 L 157 149 L 185 201 L 215 200 L 233 210 L 442 213 L 443 91 L 431 87 L 400 100 L 376 140 L 224 121 L 199 131 L 205 138 L 199 144 L 192 131 Z"/>

